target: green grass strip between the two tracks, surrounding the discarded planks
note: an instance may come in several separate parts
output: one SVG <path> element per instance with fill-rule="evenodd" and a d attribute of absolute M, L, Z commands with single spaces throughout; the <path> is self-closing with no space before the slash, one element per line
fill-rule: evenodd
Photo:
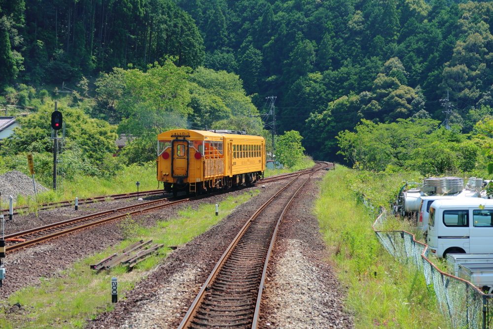
<path fill-rule="evenodd" d="M 260 191 L 256 189 L 252 194 L 258 193 Z M 219 216 L 215 216 L 213 204 L 201 205 L 197 210 L 183 209 L 178 211 L 178 216 L 174 219 L 158 221 L 152 228 L 139 227 L 136 237 L 74 263 L 70 269 L 62 273 L 62 277 L 41 278 L 40 285 L 21 289 L 3 303 L 3 307 L 0 307 L 0 328 L 83 328 L 88 320 L 113 308 L 109 290 L 112 276 L 118 278 L 119 299 L 122 299 L 126 292 L 146 277 L 150 269 L 165 261 L 170 249 L 160 250 L 128 273 L 127 269 L 121 266 L 97 273 L 89 269 L 90 264 L 139 239 L 153 239 L 154 243 L 163 243 L 165 246 L 184 244 L 207 231 L 229 215 L 236 206 L 245 203 L 251 197 L 249 192 L 245 192 L 236 197 L 224 198 L 219 203 Z M 23 314 L 8 313 L 8 305 L 17 302 L 21 303 L 26 311 Z"/>

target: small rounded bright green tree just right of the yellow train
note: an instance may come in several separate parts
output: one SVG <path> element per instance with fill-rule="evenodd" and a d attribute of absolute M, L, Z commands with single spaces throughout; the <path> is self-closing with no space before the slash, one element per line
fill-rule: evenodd
<path fill-rule="evenodd" d="M 276 143 L 276 160 L 287 167 L 296 166 L 303 158 L 305 148 L 301 146 L 300 133 L 296 130 L 285 131 L 284 135 L 279 136 Z"/>

